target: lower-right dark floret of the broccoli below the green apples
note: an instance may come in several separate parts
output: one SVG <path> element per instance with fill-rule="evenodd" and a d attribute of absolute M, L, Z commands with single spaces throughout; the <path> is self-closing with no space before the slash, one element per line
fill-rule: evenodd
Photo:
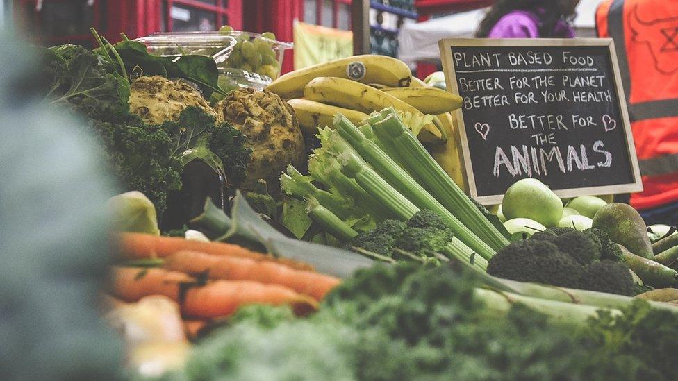
<path fill-rule="evenodd" d="M 631 296 L 634 294 L 634 280 L 627 266 L 603 260 L 586 266 L 578 288 Z"/>

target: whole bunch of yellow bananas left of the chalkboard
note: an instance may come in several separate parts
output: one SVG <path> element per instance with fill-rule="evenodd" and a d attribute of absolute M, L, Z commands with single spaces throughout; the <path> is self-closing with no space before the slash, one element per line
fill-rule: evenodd
<path fill-rule="evenodd" d="M 288 99 L 304 133 L 332 126 L 338 112 L 357 125 L 371 112 L 388 107 L 417 119 L 435 115 L 418 137 L 429 144 L 433 157 L 454 181 L 465 187 L 458 134 L 449 113 L 461 107 L 461 97 L 429 87 L 396 58 L 340 58 L 285 74 L 267 90 Z"/>

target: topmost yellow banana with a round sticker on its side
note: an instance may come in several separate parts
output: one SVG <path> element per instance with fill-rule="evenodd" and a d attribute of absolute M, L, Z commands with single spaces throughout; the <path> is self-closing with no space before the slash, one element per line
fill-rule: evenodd
<path fill-rule="evenodd" d="M 292 71 L 273 81 L 266 89 L 283 99 L 300 98 L 306 83 L 316 77 L 338 77 L 388 87 L 406 87 L 412 81 L 412 72 L 397 58 L 353 56 Z"/>

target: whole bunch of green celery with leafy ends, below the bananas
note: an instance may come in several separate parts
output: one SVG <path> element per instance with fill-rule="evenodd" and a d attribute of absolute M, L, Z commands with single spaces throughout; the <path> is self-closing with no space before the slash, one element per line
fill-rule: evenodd
<path fill-rule="evenodd" d="M 338 238 L 350 239 L 354 230 L 363 230 L 355 221 L 406 221 L 428 209 L 454 230 L 455 239 L 444 253 L 449 257 L 465 262 L 474 257 L 475 266 L 485 269 L 487 260 L 508 244 L 392 108 L 372 115 L 360 128 L 339 114 L 334 129 L 321 129 L 318 137 L 322 146 L 309 160 L 311 177 L 289 167 L 281 184 L 288 195 L 309 201 L 311 218 L 341 234 Z"/>

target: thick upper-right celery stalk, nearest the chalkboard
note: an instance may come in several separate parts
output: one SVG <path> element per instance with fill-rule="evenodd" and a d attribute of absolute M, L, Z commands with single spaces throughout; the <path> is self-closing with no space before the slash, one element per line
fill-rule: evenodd
<path fill-rule="evenodd" d="M 388 109 L 381 114 L 388 114 Z M 389 144 L 385 144 L 387 153 L 401 162 L 420 185 L 495 251 L 509 244 L 509 240 L 483 216 L 397 116 L 389 115 L 381 121 L 376 120 L 377 115 L 370 118 L 374 133 L 392 145 L 392 149 L 389 149 Z"/>

